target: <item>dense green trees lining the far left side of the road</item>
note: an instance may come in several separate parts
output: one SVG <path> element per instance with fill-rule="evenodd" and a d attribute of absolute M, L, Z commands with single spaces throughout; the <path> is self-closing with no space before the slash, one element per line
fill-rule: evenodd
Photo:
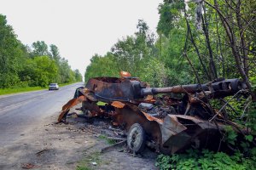
<path fill-rule="evenodd" d="M 22 44 L 6 16 L 0 14 L 0 89 L 47 87 L 50 82 L 81 82 L 55 44 L 44 41 Z"/>

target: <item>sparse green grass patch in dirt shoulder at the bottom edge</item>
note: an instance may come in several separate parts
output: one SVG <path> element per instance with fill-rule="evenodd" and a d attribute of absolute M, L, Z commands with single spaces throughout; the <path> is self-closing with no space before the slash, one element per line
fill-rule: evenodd
<path fill-rule="evenodd" d="M 90 153 L 88 156 L 84 157 L 82 161 L 79 161 L 79 165 L 76 170 L 92 170 L 95 169 L 102 163 L 100 159 L 101 153 L 98 151 Z M 96 166 L 92 165 L 92 162 L 95 161 L 97 163 Z"/>

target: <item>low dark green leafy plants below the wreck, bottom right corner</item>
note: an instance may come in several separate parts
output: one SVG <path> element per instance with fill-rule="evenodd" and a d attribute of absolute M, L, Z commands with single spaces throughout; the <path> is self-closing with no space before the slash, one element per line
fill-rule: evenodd
<path fill-rule="evenodd" d="M 256 168 L 255 150 L 253 148 L 249 157 L 236 152 L 229 156 L 224 152 L 212 152 L 209 150 L 187 150 L 185 154 L 173 154 L 172 156 L 160 155 L 156 166 L 160 169 L 254 169 Z"/>

